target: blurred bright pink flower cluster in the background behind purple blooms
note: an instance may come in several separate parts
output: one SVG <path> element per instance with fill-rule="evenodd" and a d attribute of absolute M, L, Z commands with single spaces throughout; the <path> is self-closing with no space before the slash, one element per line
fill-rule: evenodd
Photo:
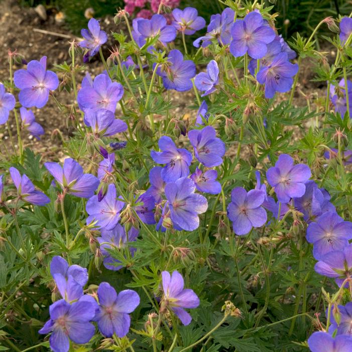
<path fill-rule="evenodd" d="M 139 8 L 137 17 L 150 19 L 153 14 L 158 12 L 160 4 L 174 9 L 180 5 L 180 0 L 125 0 L 125 4 L 125 10 L 130 15 L 135 12 L 136 8 Z"/>

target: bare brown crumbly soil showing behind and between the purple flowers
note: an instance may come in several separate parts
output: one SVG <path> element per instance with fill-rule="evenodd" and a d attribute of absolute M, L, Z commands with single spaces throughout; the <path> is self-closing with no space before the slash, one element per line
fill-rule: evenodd
<path fill-rule="evenodd" d="M 84 11 L 84 10 L 82 10 Z M 113 12 L 112 12 L 113 13 Z M 41 29 L 65 35 L 70 35 L 72 39 L 74 36 L 69 33 L 63 25 L 55 22 L 55 13 L 48 10 L 47 20 L 42 20 L 33 8 L 20 8 L 18 2 L 15 0 L 3 0 L 0 2 L 0 81 L 9 80 L 9 67 L 8 67 L 8 50 L 17 52 L 24 56 L 27 61 L 39 60 L 43 55 L 48 57 L 48 68 L 52 68 L 53 64 L 63 63 L 65 60 L 70 62 L 68 55 L 70 39 L 61 38 L 55 35 L 47 35 L 35 32 L 34 29 Z M 102 28 L 109 33 L 110 30 L 118 30 L 113 24 L 112 17 L 106 18 L 101 21 Z M 111 46 L 113 43 L 107 43 Z M 105 45 L 105 54 L 108 55 L 107 46 Z M 333 58 L 329 50 L 329 59 Z M 81 60 L 81 58 L 78 58 Z M 89 63 L 88 70 L 92 75 L 96 75 L 102 71 L 102 65 L 98 59 Z M 329 61 L 330 61 L 329 60 Z M 313 72 L 312 65 L 305 60 L 304 65 L 300 70 L 299 88 L 306 94 L 311 96 L 313 101 L 314 96 L 317 94 L 323 96 L 325 94 L 325 85 L 321 83 L 311 82 Z M 21 68 L 21 65 L 16 64 L 14 70 Z M 82 75 L 83 76 L 83 75 Z M 77 80 L 80 82 L 80 78 Z M 60 102 L 65 104 L 72 103 L 72 95 L 65 91 L 60 93 L 56 92 Z M 187 108 L 193 96 L 192 92 L 182 94 L 171 94 L 173 103 L 177 105 L 174 113 L 178 118 L 184 114 L 194 115 L 195 110 Z M 279 99 L 284 99 L 285 95 L 281 94 Z M 295 103 L 298 105 L 305 104 L 305 98 L 302 94 L 296 92 Z M 314 103 L 312 105 L 314 108 Z M 34 109 L 37 121 L 44 127 L 45 135 L 40 141 L 29 137 L 24 134 L 25 146 L 29 146 L 37 152 L 43 153 L 45 159 L 60 158 L 62 151 L 59 148 L 60 142 L 52 138 L 54 129 L 59 129 L 63 135 L 69 136 L 70 130 L 66 127 L 65 117 L 60 113 L 53 99 L 49 98 L 49 102 L 42 109 Z M 16 135 L 16 126 L 13 114 L 10 115 L 9 121 L 13 133 Z M 0 138 L 5 140 L 6 144 L 9 143 L 9 133 L 6 125 L 0 127 Z"/>

